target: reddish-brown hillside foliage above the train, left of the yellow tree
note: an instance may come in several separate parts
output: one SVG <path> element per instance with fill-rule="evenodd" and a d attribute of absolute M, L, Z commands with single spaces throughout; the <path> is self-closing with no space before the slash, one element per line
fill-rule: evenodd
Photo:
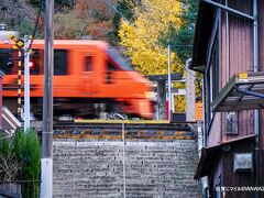
<path fill-rule="evenodd" d="M 16 30 L 21 35 L 32 34 L 38 10 L 41 18 L 36 36 L 44 37 L 44 1 L 42 0 L 1 0 L 0 23 L 8 30 Z M 65 3 L 63 3 L 65 2 Z M 108 41 L 112 31 L 112 19 L 118 0 L 76 0 L 74 7 L 68 1 L 55 0 L 54 37 L 80 38 L 89 35 L 95 40 Z"/>

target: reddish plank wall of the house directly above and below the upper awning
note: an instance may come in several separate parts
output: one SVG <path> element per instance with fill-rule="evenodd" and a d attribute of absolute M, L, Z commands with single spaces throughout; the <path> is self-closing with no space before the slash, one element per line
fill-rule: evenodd
<path fill-rule="evenodd" d="M 251 0 L 228 0 L 228 6 L 252 14 Z M 227 18 L 229 28 L 227 28 Z M 227 12 L 222 11 L 219 33 L 221 41 L 221 87 L 224 87 L 233 74 L 253 70 L 253 22 L 230 13 L 227 16 Z M 226 112 L 221 113 L 222 142 L 254 133 L 252 110 L 239 111 L 238 135 L 226 134 Z"/>

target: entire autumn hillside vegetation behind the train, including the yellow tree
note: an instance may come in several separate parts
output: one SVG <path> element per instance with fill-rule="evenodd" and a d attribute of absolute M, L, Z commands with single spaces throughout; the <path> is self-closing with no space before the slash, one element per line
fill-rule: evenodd
<path fill-rule="evenodd" d="M 21 35 L 44 37 L 44 0 L 1 0 L 0 23 Z M 185 74 L 191 54 L 197 0 L 54 0 L 54 37 L 102 40 L 117 47 L 144 75 Z M 75 2 L 75 3 L 73 3 Z M 120 50 L 121 48 L 121 50 Z M 177 88 L 184 85 L 176 84 Z M 198 86 L 197 86 L 198 87 Z M 198 90 L 198 89 L 197 89 Z M 198 91 L 197 91 L 198 92 Z"/>

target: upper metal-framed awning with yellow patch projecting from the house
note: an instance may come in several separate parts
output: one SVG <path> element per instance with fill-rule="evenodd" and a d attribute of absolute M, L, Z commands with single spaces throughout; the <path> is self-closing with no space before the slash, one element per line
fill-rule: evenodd
<path fill-rule="evenodd" d="M 233 75 L 211 103 L 212 111 L 264 108 L 264 73 Z"/>

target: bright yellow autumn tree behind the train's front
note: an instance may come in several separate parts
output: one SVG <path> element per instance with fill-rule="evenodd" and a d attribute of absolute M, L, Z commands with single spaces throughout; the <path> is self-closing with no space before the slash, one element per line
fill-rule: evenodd
<path fill-rule="evenodd" d="M 121 21 L 119 35 L 135 69 L 144 75 L 167 74 L 167 47 L 160 45 L 169 25 L 180 25 L 180 2 L 177 0 L 142 0 L 134 9 L 135 21 Z M 183 70 L 177 55 L 170 54 L 172 70 Z"/>

